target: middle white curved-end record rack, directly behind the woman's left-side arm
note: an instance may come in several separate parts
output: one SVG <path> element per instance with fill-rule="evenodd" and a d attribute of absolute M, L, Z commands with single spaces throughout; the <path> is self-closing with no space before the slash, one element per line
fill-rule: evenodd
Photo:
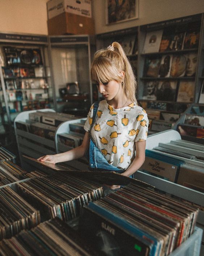
<path fill-rule="evenodd" d="M 79 122 L 85 121 L 85 120 L 86 120 L 86 118 L 70 120 L 70 121 L 61 123 L 58 126 L 58 129 L 56 130 L 56 133 L 55 133 L 56 153 L 62 153 L 62 152 L 66 152 L 66 151 L 69 151 L 69 150 L 73 149 L 72 147 L 69 147 L 67 145 L 63 145 L 62 143 L 60 143 L 59 140 L 58 140 L 58 135 L 60 135 L 62 133 L 68 133 L 68 134 L 72 134 L 72 135 L 80 135 L 79 133 L 75 133 L 73 131 L 70 131 L 69 130 L 69 124 L 70 123 L 79 123 Z M 81 137 L 83 138 L 84 136 L 81 134 Z M 72 160 L 72 161 L 69 161 L 69 162 L 65 162 L 65 164 L 67 164 L 68 166 L 75 167 L 78 170 L 82 170 L 82 171 L 88 170 L 88 162 L 87 162 L 85 157 L 82 157 L 82 158 L 77 159 L 77 160 Z"/>

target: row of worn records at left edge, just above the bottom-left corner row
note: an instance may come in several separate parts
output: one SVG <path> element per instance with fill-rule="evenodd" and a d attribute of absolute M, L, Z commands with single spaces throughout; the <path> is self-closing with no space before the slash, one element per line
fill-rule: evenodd
<path fill-rule="evenodd" d="M 40 213 L 10 187 L 0 189 L 0 240 L 40 223 Z M 12 254 L 10 254 L 12 255 Z"/>

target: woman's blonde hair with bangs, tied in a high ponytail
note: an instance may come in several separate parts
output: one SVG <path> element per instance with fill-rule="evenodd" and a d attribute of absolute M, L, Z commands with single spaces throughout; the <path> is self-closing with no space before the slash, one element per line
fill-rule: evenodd
<path fill-rule="evenodd" d="M 131 64 L 118 42 L 113 42 L 112 47 L 114 49 L 104 48 L 94 54 L 90 70 L 92 81 L 98 80 L 102 84 L 112 80 L 123 82 L 124 94 L 136 102 L 137 82 Z M 120 74 L 122 71 L 125 73 L 124 80 Z"/>

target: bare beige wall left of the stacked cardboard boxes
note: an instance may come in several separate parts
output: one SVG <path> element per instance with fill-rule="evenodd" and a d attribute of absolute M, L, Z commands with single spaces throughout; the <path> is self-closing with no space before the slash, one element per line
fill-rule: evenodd
<path fill-rule="evenodd" d="M 0 32 L 47 34 L 47 0 L 0 0 Z"/>

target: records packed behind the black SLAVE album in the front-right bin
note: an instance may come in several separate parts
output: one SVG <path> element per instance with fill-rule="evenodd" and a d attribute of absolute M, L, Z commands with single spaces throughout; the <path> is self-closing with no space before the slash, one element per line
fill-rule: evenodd
<path fill-rule="evenodd" d="M 127 185 L 97 202 L 89 203 L 85 209 L 93 211 L 93 214 L 89 215 L 91 224 L 86 213 L 82 215 L 79 228 L 84 227 L 80 230 L 84 236 L 88 237 L 91 229 L 93 232 L 97 225 L 94 214 L 99 214 L 103 222 L 101 227 L 106 225 L 106 220 L 110 220 L 120 230 L 135 235 L 136 239 L 146 237 L 147 243 L 151 240 L 149 255 L 152 256 L 169 255 L 185 241 L 194 231 L 198 215 L 197 207 L 136 184 Z M 110 225 L 109 230 L 111 228 L 115 227 Z"/>

